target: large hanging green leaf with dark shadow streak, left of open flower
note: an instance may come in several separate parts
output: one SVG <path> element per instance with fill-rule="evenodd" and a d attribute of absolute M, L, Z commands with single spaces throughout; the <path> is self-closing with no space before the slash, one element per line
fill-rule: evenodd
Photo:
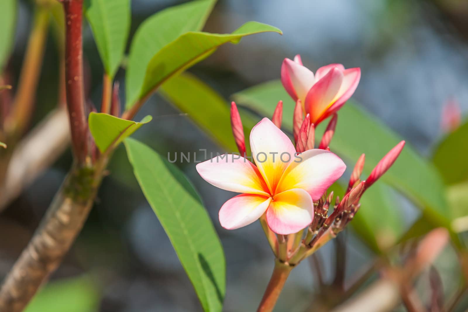
<path fill-rule="evenodd" d="M 205 311 L 221 311 L 226 262 L 218 235 L 183 173 L 151 148 L 124 141 L 141 190 L 168 234 Z"/>

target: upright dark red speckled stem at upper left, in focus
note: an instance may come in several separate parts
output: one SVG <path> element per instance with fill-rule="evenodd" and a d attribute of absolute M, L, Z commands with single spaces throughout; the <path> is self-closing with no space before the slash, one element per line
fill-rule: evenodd
<path fill-rule="evenodd" d="M 83 0 L 64 0 L 66 102 L 70 118 L 73 155 L 84 164 L 88 154 L 88 123 L 83 82 L 83 44 L 81 36 Z"/>

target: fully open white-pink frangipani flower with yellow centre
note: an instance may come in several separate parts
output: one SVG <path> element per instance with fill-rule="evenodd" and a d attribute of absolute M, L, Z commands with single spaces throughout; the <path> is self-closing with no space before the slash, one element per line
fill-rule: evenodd
<path fill-rule="evenodd" d="M 197 164 L 207 182 L 243 193 L 219 210 L 220 224 L 229 230 L 249 225 L 266 214 L 271 230 L 291 234 L 314 218 L 314 203 L 343 173 L 344 162 L 334 153 L 312 149 L 297 154 L 291 140 L 268 118 L 250 132 L 255 166 L 234 154 Z"/>

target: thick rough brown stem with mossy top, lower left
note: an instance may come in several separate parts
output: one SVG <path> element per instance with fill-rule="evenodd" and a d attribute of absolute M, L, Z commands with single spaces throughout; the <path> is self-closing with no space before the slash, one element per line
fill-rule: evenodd
<path fill-rule="evenodd" d="M 0 311 L 22 311 L 59 266 L 88 217 L 101 180 L 101 169 L 73 165 L 28 246 L 5 277 Z"/>

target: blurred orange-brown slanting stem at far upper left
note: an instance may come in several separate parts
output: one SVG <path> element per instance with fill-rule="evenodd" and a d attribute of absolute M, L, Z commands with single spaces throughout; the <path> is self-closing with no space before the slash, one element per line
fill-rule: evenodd
<path fill-rule="evenodd" d="M 7 135 L 14 141 L 26 130 L 32 116 L 48 27 L 49 9 L 37 5 L 13 110 L 6 120 Z"/>

